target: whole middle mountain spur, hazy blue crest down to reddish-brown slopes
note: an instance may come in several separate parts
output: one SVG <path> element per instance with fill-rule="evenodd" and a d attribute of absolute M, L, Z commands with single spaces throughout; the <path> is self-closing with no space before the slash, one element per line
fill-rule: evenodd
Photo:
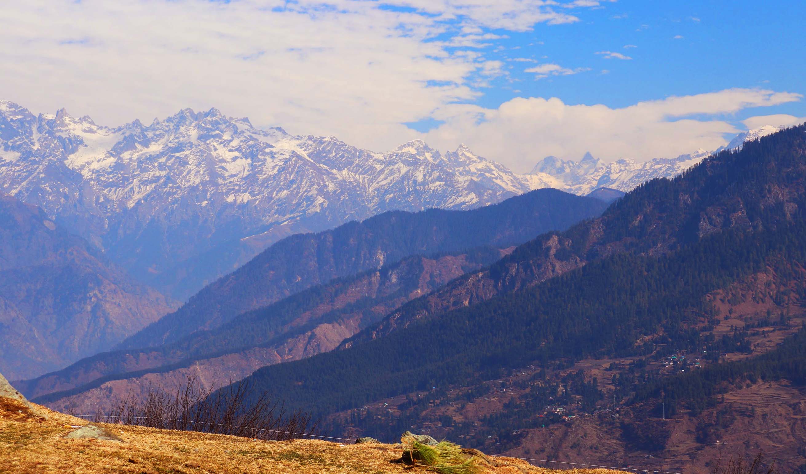
<path fill-rule="evenodd" d="M 240 354 L 229 359 L 230 371 L 210 375 L 213 384 L 225 381 L 225 373 L 246 376 L 266 364 L 328 351 L 406 301 L 499 259 L 496 249 L 596 217 L 606 206 L 541 189 L 477 210 L 391 212 L 317 235 L 295 235 L 131 337 L 124 349 L 20 387 L 34 397 L 75 393 L 93 380 L 165 372 L 164 366 L 190 360 L 197 368 L 211 366 L 199 361 Z M 486 250 L 467 250 L 473 247 Z M 261 347 L 260 355 L 254 347 Z M 73 399 L 79 397 L 91 398 Z"/>

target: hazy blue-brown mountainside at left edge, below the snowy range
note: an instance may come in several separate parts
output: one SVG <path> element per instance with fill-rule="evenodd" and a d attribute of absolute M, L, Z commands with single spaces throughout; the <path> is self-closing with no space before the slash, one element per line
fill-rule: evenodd
<path fill-rule="evenodd" d="M 81 237 L 0 194 L 0 365 L 12 379 L 106 351 L 172 310 Z"/>

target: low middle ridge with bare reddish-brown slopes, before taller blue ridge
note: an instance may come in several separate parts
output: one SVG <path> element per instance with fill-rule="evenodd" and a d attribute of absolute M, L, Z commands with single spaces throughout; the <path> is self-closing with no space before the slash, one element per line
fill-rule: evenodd
<path fill-rule="evenodd" d="M 58 410 L 71 407 L 99 413 L 120 397 L 145 393 L 151 386 L 173 387 L 188 376 L 199 376 L 206 387 L 226 385 L 265 365 L 330 351 L 406 301 L 430 293 L 506 252 L 410 257 L 380 270 L 331 282 L 313 290 L 315 297 L 302 294 L 298 297 L 303 300 L 301 305 L 286 314 L 287 322 L 271 329 L 262 322 L 277 318 L 278 313 L 284 312 L 284 305 L 291 306 L 290 302 L 280 301 L 276 308 L 269 306 L 244 314 L 218 331 L 200 333 L 182 344 L 99 355 L 31 384 L 20 382 L 18 386 L 31 397 L 41 397 L 77 388 L 102 376 L 121 374 L 114 376 L 114 380 L 79 389 L 78 393 L 65 393 L 64 397 L 55 394 L 48 399 L 48 405 Z M 253 326 L 260 329 L 250 330 Z M 243 331 L 255 331 L 260 337 L 247 343 Z M 234 344 L 228 346 L 230 341 Z M 135 371 L 139 373 L 127 374 Z"/>

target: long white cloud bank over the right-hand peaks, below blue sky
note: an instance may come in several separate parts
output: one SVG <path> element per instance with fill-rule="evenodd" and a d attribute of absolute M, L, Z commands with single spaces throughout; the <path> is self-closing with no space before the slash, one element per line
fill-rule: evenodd
<path fill-rule="evenodd" d="M 643 161 L 718 148 L 726 143 L 725 134 L 741 131 L 725 121 L 725 114 L 801 97 L 765 89 L 725 89 L 617 109 L 569 105 L 559 98 L 515 98 L 496 109 L 448 106 L 435 116 L 446 123 L 424 138 L 440 148 L 463 141 L 481 156 L 521 172 L 544 156 L 578 160 L 588 151 L 605 160 Z M 771 118 L 749 120 L 748 126 Z"/>

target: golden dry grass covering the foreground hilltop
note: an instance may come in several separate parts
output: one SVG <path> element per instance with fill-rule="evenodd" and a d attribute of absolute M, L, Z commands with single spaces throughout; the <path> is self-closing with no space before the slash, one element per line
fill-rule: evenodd
<path fill-rule="evenodd" d="M 0 399 L 0 472 L 186 472 L 333 474 L 427 472 L 394 463 L 400 459 L 400 444 L 339 444 L 318 440 L 283 442 L 156 430 L 141 426 L 104 425 L 123 442 L 98 439 L 65 439 L 73 428 L 85 425 L 79 418 L 39 405 L 31 411 L 10 399 Z M 44 415 L 47 419 L 40 418 Z M 563 472 L 614 474 L 603 469 L 551 471 L 535 468 L 517 459 L 495 458 L 497 467 L 481 472 L 522 474 Z"/>

